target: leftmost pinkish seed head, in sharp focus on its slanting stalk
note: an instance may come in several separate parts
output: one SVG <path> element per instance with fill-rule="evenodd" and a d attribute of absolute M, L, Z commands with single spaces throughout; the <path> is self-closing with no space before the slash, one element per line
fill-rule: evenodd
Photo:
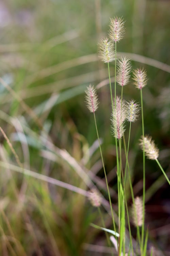
<path fill-rule="evenodd" d="M 98 96 L 97 92 L 94 86 L 91 86 L 91 84 L 87 87 L 85 90 L 86 96 L 85 101 L 87 104 L 87 108 L 90 112 L 95 113 L 95 111 L 98 109 Z"/>

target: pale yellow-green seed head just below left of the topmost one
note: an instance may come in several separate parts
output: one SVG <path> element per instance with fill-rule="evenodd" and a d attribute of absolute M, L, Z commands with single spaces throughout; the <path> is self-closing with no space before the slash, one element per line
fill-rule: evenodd
<path fill-rule="evenodd" d="M 99 57 L 105 63 L 115 60 L 114 45 L 107 38 L 101 39 L 99 43 Z"/>

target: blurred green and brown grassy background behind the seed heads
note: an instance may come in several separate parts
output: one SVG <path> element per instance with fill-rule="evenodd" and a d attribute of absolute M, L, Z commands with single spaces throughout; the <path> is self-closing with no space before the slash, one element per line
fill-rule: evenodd
<path fill-rule="evenodd" d="M 119 55 L 130 57 L 133 68 L 147 70 L 145 132 L 158 145 L 160 163 L 169 175 L 169 10 L 168 0 L 0 0 L 0 126 L 19 157 L 1 131 L 0 255 L 110 253 L 104 232 L 90 227 L 91 222 L 101 225 L 98 211 L 86 196 L 71 191 L 69 184 L 86 191 L 92 180 L 108 199 L 94 120 L 84 102 L 84 90 L 91 83 L 98 88 L 96 117 L 117 211 L 108 73 L 97 56 L 97 44 L 107 35 L 109 18 L 115 15 L 126 20 L 125 37 L 117 46 Z M 140 101 L 132 81 L 124 88 L 124 98 Z M 131 134 L 131 176 L 134 193 L 141 196 L 140 119 Z M 65 182 L 66 188 L 42 181 L 42 176 L 35 179 L 17 173 L 24 172 L 23 168 Z M 90 177 L 86 182 L 85 174 Z M 128 193 L 128 184 L 126 189 Z M 146 227 L 148 251 L 153 246 L 153 255 L 170 252 L 169 194 L 157 164 L 147 159 Z M 129 193 L 129 209 L 131 204 Z M 102 208 L 102 212 L 111 227 L 107 211 Z M 135 239 L 133 224 L 132 233 Z"/>

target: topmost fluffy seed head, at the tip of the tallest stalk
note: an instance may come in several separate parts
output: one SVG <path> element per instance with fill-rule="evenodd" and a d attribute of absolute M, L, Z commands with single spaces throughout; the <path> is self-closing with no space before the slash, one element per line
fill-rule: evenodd
<path fill-rule="evenodd" d="M 124 20 L 122 18 L 111 18 L 109 24 L 109 37 L 113 41 L 119 42 L 123 38 L 124 30 Z"/>

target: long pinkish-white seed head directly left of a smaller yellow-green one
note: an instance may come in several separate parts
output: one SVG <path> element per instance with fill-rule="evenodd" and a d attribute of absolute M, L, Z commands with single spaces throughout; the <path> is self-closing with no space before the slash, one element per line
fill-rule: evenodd
<path fill-rule="evenodd" d="M 114 108 L 112 116 L 111 116 L 111 122 L 112 122 L 112 132 L 115 138 L 120 139 L 122 138 L 125 126 L 124 126 L 124 120 L 125 120 L 125 114 L 124 110 L 121 107 Z"/>

